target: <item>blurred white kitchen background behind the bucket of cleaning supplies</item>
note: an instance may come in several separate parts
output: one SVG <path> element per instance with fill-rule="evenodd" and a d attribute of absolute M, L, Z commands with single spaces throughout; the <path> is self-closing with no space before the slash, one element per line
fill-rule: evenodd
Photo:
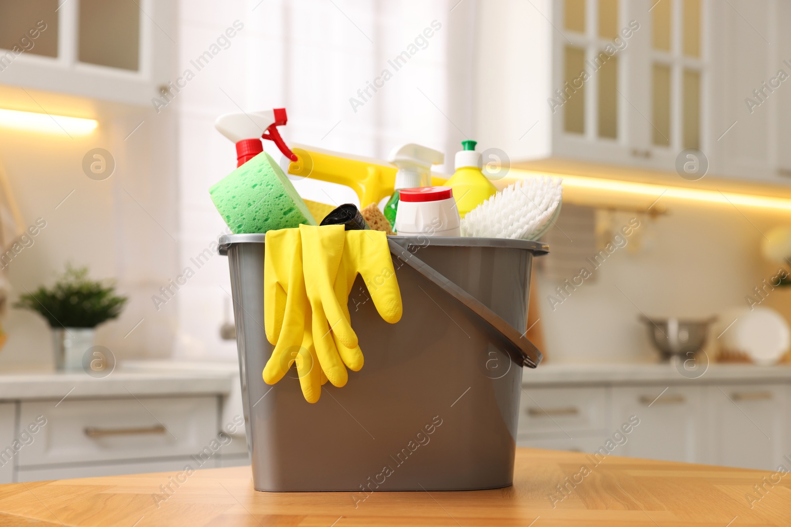
<path fill-rule="evenodd" d="M 240 416 L 207 191 L 236 154 L 214 119 L 274 107 L 289 144 L 385 159 L 414 142 L 450 174 L 475 139 L 498 184 L 565 178 L 517 444 L 593 452 L 637 415 L 608 452 L 776 468 L 791 453 L 789 21 L 781 0 L 0 0 L 3 250 L 39 222 L 2 264 L 0 448 L 47 417 L 0 452 L 0 480 L 180 469 Z M 97 328 L 115 364 L 100 382 L 47 373 L 46 320 L 11 305 L 67 263 L 128 297 Z M 243 428 L 210 466 L 248 462 Z"/>

